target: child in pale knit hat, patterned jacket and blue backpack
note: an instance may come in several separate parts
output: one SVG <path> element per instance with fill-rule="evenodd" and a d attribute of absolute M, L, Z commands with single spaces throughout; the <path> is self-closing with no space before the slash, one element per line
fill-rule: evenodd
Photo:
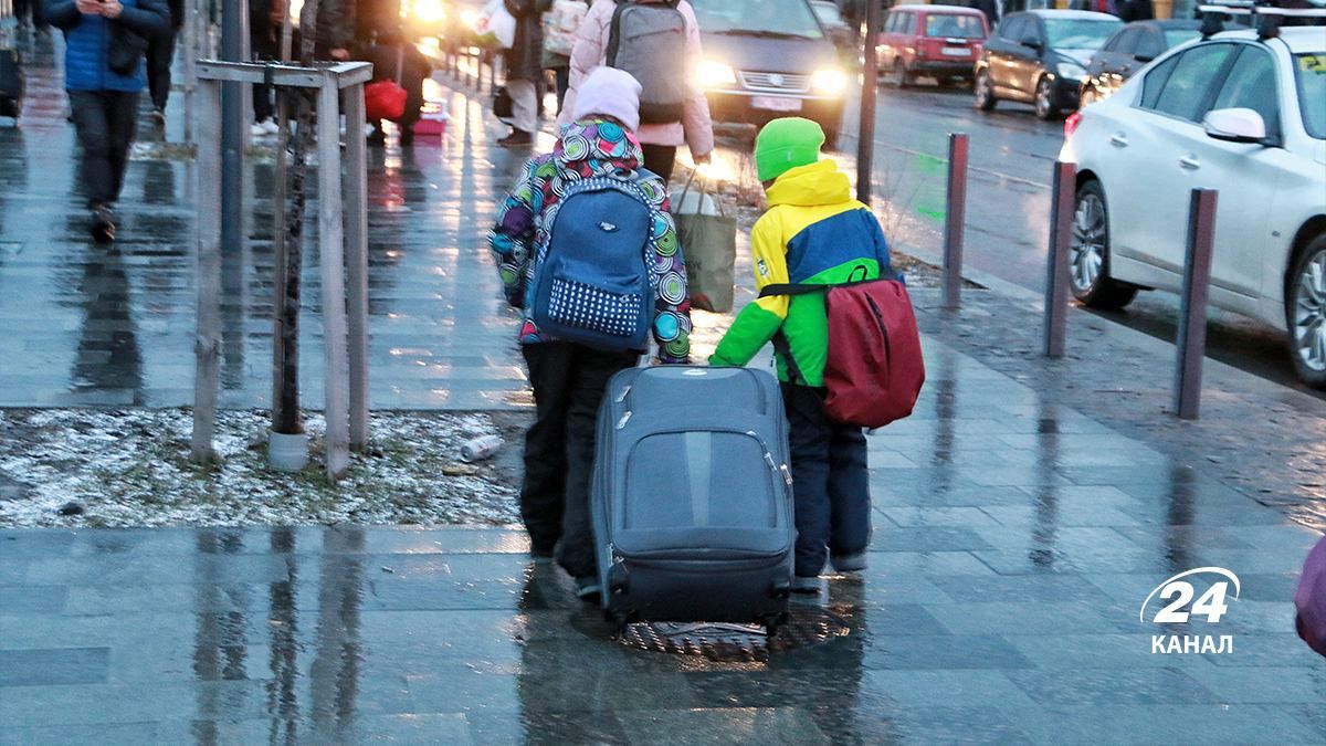
<path fill-rule="evenodd" d="M 534 288 L 541 264 L 549 252 L 556 254 L 564 246 L 561 242 L 583 246 L 575 238 L 560 236 L 594 235 L 601 247 L 633 244 L 635 248 L 629 251 L 627 260 L 639 259 L 638 247 L 644 244 L 648 267 L 640 261 L 640 271 L 650 275 L 643 279 L 646 287 L 654 288 L 654 297 L 642 297 L 638 303 L 652 301 L 652 319 L 644 321 L 658 344 L 658 360 L 667 364 L 688 360 L 691 313 L 686 265 L 667 188 L 656 175 L 640 170 L 643 154 L 635 137 L 639 94 L 639 82 L 622 70 L 601 68 L 582 81 L 570 122 L 562 129 L 553 153 L 525 166 L 524 177 L 501 204 L 489 235 L 507 300 L 524 311 L 520 341 L 534 389 L 536 419 L 525 434 L 521 516 L 529 531 L 532 555 L 550 559 L 556 546 L 558 563 L 575 577 L 577 592 L 583 599 L 593 599 L 599 591 L 589 520 L 595 414 L 607 380 L 635 365 L 644 350 L 590 346 L 552 337 L 534 321 L 541 312 L 549 311 L 536 297 Z M 618 223 L 625 226 L 621 230 L 630 230 L 633 223 L 626 215 L 630 211 L 594 212 L 602 203 L 595 202 L 598 195 L 589 190 L 607 190 L 618 182 L 622 194 L 636 195 L 633 199 L 644 203 L 647 219 L 639 222 L 643 231 L 639 236 L 615 235 Z M 577 212 L 568 212 L 573 200 Z M 633 208 L 636 206 L 630 203 Z M 560 223 L 568 214 L 579 218 L 574 224 Z M 605 256 L 603 261 L 609 260 Z M 569 292 L 578 291 L 570 287 Z M 585 304 L 579 304 L 581 300 L 585 299 L 573 299 L 577 304 L 573 316 L 599 303 L 593 297 Z M 619 316 L 610 313 L 609 319 Z"/>

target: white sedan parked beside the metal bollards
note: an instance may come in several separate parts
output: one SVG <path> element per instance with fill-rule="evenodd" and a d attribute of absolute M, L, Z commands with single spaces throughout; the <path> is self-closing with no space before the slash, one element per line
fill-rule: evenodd
<path fill-rule="evenodd" d="M 1220 190 L 1211 303 L 1288 329 L 1298 376 L 1326 388 L 1326 28 L 1175 48 L 1065 133 L 1078 300 L 1177 292 L 1189 192 Z"/>

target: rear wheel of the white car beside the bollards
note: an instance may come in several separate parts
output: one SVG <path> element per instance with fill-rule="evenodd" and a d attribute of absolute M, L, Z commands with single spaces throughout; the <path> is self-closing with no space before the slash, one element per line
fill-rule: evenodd
<path fill-rule="evenodd" d="M 1138 288 L 1110 277 L 1110 220 L 1099 182 L 1078 187 L 1070 244 L 1073 297 L 1091 308 L 1123 308 Z"/>

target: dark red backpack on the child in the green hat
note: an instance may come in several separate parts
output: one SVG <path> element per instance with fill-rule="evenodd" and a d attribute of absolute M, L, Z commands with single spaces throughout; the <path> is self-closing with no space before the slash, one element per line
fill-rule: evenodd
<path fill-rule="evenodd" d="M 882 427 L 912 413 L 926 382 L 920 331 L 907 288 L 898 280 L 842 285 L 770 284 L 760 297 L 825 293 L 829 354 L 825 360 L 825 413 L 830 419 Z M 796 382 L 805 381 L 782 332 L 773 345 Z"/>

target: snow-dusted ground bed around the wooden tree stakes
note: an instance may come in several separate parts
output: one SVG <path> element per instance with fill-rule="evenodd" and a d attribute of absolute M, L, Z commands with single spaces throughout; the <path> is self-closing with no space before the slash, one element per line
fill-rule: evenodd
<path fill-rule="evenodd" d="M 220 463 L 192 463 L 187 410 L 0 410 L 0 527 L 513 524 L 514 479 L 460 462 L 500 434 L 483 413 L 381 413 L 337 485 L 321 471 L 324 421 L 309 417 L 308 469 L 267 469 L 268 418 L 221 411 Z M 507 446 L 509 447 L 509 446 Z M 82 512 L 61 515 L 77 503 Z"/>

